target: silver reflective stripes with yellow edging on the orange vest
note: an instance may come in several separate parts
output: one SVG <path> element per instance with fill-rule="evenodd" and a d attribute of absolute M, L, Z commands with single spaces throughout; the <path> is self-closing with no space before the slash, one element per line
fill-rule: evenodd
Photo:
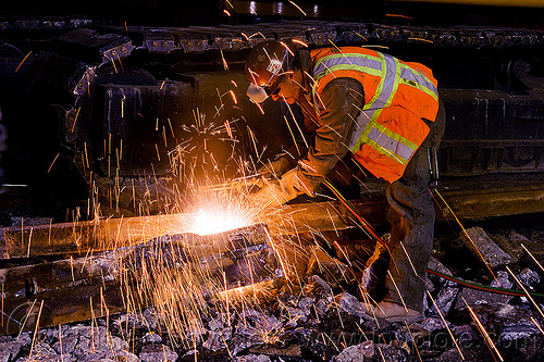
<path fill-rule="evenodd" d="M 378 122 L 384 108 L 391 105 L 399 85 L 413 87 L 437 99 L 437 89 L 422 73 L 400 63 L 396 58 L 376 52 L 379 57 L 360 53 L 337 53 L 319 59 L 314 65 L 314 87 L 323 76 L 348 70 L 380 77 L 372 99 L 366 102 L 349 140 L 353 152 L 367 143 L 382 154 L 406 165 L 419 145 L 406 139 Z"/>

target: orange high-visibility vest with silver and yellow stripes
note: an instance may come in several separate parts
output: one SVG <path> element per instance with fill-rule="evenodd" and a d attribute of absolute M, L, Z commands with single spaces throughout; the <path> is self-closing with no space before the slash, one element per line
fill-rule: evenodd
<path fill-rule="evenodd" d="M 437 83 L 431 70 L 358 47 L 316 49 L 310 55 L 316 107 L 332 79 L 359 80 L 366 103 L 348 147 L 374 176 L 390 183 L 400 178 L 429 133 L 422 118 L 434 121 L 438 112 Z"/>

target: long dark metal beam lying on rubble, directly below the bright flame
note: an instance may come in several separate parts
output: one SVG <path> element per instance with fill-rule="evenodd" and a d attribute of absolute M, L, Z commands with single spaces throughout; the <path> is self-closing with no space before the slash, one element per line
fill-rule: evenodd
<path fill-rule="evenodd" d="M 37 323 L 48 327 L 122 313 L 128 304 L 149 307 L 152 289 L 162 287 L 154 284 L 163 280 L 157 277 L 176 272 L 190 276 L 198 289 L 193 294 L 205 298 L 284 275 L 264 224 L 207 236 L 161 236 L 92 257 L 4 267 L 1 313 L 7 323 L 0 335 Z M 183 302 L 187 296 L 174 298 Z"/>

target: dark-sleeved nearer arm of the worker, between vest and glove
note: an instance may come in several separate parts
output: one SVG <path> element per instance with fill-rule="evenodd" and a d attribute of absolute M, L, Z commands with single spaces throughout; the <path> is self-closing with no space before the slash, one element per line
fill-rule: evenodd
<path fill-rule="evenodd" d="M 302 192 L 313 195 L 325 175 L 346 155 L 349 135 L 363 104 L 362 86 L 355 79 L 336 78 L 323 89 L 316 146 L 296 168 Z"/>

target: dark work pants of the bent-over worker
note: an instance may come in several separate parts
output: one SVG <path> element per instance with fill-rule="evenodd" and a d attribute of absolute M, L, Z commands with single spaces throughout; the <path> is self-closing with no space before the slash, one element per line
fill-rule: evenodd
<path fill-rule="evenodd" d="M 405 303 L 422 312 L 425 270 L 434 237 L 434 205 L 431 195 L 429 149 L 437 149 L 444 135 L 445 114 L 440 102 L 435 122 L 426 122 L 429 135 L 416 151 L 403 176 L 387 185 L 392 224 L 390 250 L 392 263 L 384 301 Z M 392 280 L 393 278 L 393 280 Z"/>

